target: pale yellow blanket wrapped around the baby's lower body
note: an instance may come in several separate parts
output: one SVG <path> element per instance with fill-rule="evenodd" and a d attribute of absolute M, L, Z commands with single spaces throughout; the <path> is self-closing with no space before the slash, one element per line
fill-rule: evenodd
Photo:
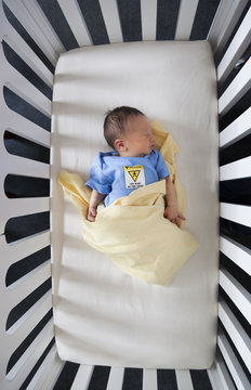
<path fill-rule="evenodd" d="M 176 190 L 179 210 L 184 214 L 185 192 L 175 167 L 177 145 L 157 121 L 153 121 L 151 127 L 156 147 L 168 165 Z M 62 171 L 58 181 L 81 213 L 84 240 L 130 275 L 168 285 L 198 247 L 191 234 L 163 217 L 164 180 L 135 190 L 108 207 L 100 205 L 95 222 L 87 220 L 91 188 L 82 179 Z"/>

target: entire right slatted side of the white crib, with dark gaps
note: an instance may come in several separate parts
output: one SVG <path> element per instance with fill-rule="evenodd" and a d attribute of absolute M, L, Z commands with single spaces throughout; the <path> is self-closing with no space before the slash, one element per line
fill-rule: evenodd
<path fill-rule="evenodd" d="M 242 2 L 241 6 L 245 5 Z M 237 60 L 250 46 L 251 9 L 246 11 L 219 64 L 220 83 L 234 73 Z M 215 53 L 219 56 L 217 50 Z M 224 164 L 220 167 L 220 199 L 224 202 L 220 205 L 220 327 L 215 372 L 226 389 L 235 388 L 232 380 L 237 389 L 250 388 L 251 251 L 247 244 L 251 239 L 251 192 L 245 185 L 251 177 L 250 107 L 235 108 L 250 91 L 250 65 L 249 60 L 230 78 L 219 100 L 221 121 L 224 123 L 225 117 L 227 120 L 220 133 L 220 161 Z"/>

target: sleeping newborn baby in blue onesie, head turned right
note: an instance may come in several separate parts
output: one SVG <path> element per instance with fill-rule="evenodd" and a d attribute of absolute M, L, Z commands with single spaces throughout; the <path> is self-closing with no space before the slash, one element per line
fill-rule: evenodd
<path fill-rule="evenodd" d="M 88 220 L 95 221 L 98 204 L 105 206 L 141 186 L 166 179 L 164 217 L 177 226 L 185 218 L 177 210 L 177 198 L 168 167 L 155 148 L 155 136 L 147 117 L 136 108 L 121 106 L 109 110 L 104 136 L 114 150 L 98 153 L 85 185 L 92 188 Z"/>

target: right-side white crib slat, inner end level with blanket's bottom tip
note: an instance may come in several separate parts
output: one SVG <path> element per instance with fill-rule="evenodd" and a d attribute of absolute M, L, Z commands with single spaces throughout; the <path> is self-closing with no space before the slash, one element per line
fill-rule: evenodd
<path fill-rule="evenodd" d="M 241 314 L 251 323 L 250 294 L 243 286 L 226 270 L 220 271 L 220 286 L 228 295 L 230 300 L 240 310 Z"/>

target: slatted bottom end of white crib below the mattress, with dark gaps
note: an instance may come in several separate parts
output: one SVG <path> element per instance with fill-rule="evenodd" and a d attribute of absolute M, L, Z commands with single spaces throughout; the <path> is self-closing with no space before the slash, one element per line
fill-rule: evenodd
<path fill-rule="evenodd" d="M 55 390 L 212 390 L 207 370 L 138 369 L 101 366 L 71 366 L 66 363 Z M 62 386 L 62 387 L 61 387 Z"/>

